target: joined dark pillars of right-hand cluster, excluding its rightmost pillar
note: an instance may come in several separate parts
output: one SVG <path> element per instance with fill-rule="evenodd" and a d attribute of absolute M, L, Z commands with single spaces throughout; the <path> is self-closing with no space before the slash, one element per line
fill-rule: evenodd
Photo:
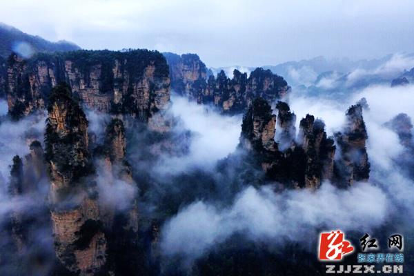
<path fill-rule="evenodd" d="M 255 162 L 265 172 L 267 179 L 291 188 L 317 188 L 322 179 L 331 177 L 329 165 L 333 166 L 333 153 L 328 155 L 329 144 L 333 152 L 333 141 L 326 138 L 324 124 L 308 115 L 301 121 L 301 142 L 295 135 L 295 115 L 287 103 L 277 103 L 278 115 L 272 114 L 268 101 L 258 98 L 246 112 L 242 124 L 240 146 L 253 155 Z M 306 125 L 305 123 L 308 123 Z M 322 123 L 322 124 L 320 124 Z M 275 142 L 278 133 L 283 143 Z M 329 159 L 331 158 L 331 159 Z"/>

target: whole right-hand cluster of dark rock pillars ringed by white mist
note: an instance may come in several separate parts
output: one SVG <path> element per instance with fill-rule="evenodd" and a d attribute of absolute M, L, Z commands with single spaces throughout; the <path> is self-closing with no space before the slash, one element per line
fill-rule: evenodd
<path fill-rule="evenodd" d="M 368 136 L 360 105 L 349 108 L 344 132 L 335 135 L 341 150 L 337 156 L 322 120 L 306 115 L 296 136 L 296 117 L 288 104 L 279 101 L 277 109 L 275 117 L 268 101 L 255 99 L 244 116 L 240 138 L 240 146 L 254 156 L 268 179 L 293 188 L 317 188 L 323 180 L 343 187 L 368 179 Z"/>

